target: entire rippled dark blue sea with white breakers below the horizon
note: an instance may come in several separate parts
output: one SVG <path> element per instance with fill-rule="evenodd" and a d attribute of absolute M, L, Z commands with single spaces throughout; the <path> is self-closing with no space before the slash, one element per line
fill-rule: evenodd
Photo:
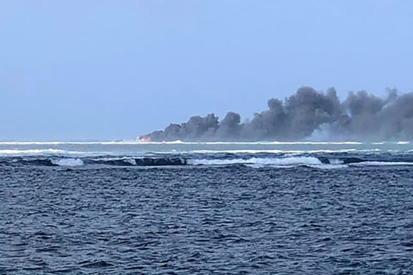
<path fill-rule="evenodd" d="M 413 143 L 0 142 L 0 274 L 413 274 Z"/>

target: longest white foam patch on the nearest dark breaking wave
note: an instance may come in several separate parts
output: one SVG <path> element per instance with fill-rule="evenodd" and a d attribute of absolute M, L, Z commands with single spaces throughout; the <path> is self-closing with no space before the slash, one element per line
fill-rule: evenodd
<path fill-rule="evenodd" d="M 258 164 L 258 165 L 310 165 L 321 164 L 315 157 L 288 157 L 288 158 L 249 158 L 232 160 L 189 160 L 192 165 L 231 165 L 231 164 Z"/>

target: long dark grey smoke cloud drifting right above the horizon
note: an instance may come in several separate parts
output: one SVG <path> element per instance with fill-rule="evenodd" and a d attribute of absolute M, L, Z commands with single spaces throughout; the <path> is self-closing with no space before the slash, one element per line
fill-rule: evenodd
<path fill-rule="evenodd" d="M 302 140 L 410 140 L 413 139 L 413 92 L 386 98 L 366 91 L 350 92 L 340 102 L 334 88 L 318 92 L 301 87 L 284 100 L 268 100 L 268 110 L 242 122 L 230 111 L 220 121 L 213 113 L 196 115 L 181 124 L 139 137 L 152 141 L 263 141 Z"/>

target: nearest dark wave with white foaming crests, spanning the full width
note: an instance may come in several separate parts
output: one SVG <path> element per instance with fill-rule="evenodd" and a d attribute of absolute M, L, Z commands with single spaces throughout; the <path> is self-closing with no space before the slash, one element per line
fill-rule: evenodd
<path fill-rule="evenodd" d="M 211 157 L 211 156 L 209 156 Z M 364 159 L 370 157 L 370 159 Z M 251 167 L 296 167 L 309 166 L 323 169 L 345 168 L 350 166 L 382 166 L 382 165 L 413 165 L 411 156 L 391 156 L 391 155 L 365 155 L 364 157 L 349 156 L 347 154 L 336 155 L 272 155 L 263 157 L 245 156 L 236 157 L 221 156 L 217 158 L 196 158 L 195 155 L 188 158 L 166 156 L 166 157 L 102 157 L 102 158 L 70 158 L 70 157 L 0 157 L 0 165 L 19 166 L 179 166 L 179 165 L 247 165 Z"/>

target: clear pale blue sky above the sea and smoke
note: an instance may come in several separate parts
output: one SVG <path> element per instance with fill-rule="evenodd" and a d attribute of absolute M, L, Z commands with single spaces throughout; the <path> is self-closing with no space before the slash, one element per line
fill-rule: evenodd
<path fill-rule="evenodd" d="M 134 139 L 303 85 L 413 90 L 410 0 L 1 0 L 0 140 Z"/>

